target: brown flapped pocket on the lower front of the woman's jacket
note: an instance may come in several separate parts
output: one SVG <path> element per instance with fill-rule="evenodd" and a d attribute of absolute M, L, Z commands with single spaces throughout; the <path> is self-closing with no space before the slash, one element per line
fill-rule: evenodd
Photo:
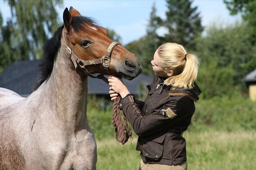
<path fill-rule="evenodd" d="M 152 160 L 162 157 L 165 135 L 155 139 L 143 138 L 142 154 Z"/>

